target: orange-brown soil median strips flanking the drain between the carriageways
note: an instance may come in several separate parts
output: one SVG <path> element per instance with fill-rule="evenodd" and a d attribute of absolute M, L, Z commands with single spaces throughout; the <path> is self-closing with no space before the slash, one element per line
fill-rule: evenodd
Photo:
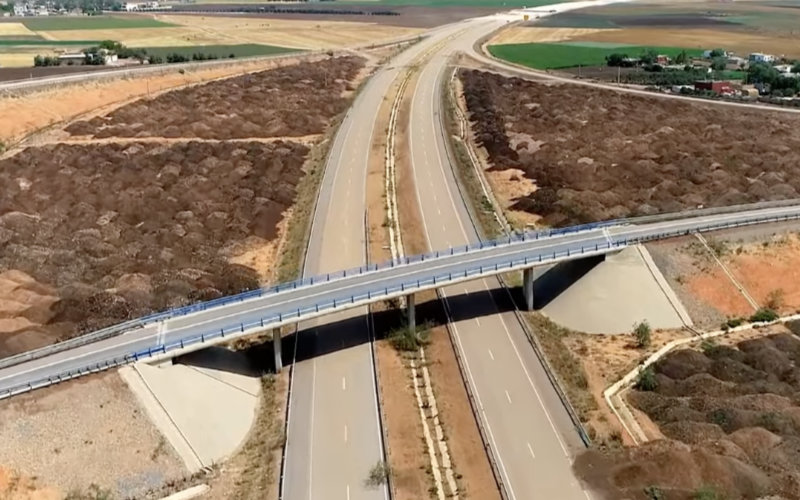
<path fill-rule="evenodd" d="M 395 138 L 397 204 L 403 246 L 407 254 L 429 250 L 422 230 L 422 219 L 408 154 L 411 97 L 416 81 L 417 76 L 414 74 L 400 102 Z M 384 101 L 379 115 L 381 121 L 376 130 L 386 129 L 392 103 L 393 99 Z M 386 213 L 386 200 L 382 196 L 384 147 L 383 137 L 373 144 L 367 178 L 370 256 L 373 260 L 375 256 L 390 257 L 387 250 L 388 231 L 383 223 Z M 443 311 L 435 293 L 418 294 L 416 300 L 420 323 L 426 320 L 426 314 L 438 318 L 438 322 L 443 321 Z M 398 326 L 397 323 L 393 325 L 394 328 Z M 389 330 L 384 328 L 384 331 Z M 376 350 L 395 497 L 408 500 L 428 498 L 433 483 L 431 464 L 413 391 L 407 360 L 409 354 L 398 353 L 387 341 L 377 342 Z M 446 435 L 459 494 L 466 498 L 487 500 L 499 498 L 497 483 L 492 475 L 455 352 L 445 327 L 430 329 L 430 343 L 425 350 L 431 385 L 439 409 L 440 422 Z M 416 355 L 414 357 L 419 362 L 419 358 Z"/>

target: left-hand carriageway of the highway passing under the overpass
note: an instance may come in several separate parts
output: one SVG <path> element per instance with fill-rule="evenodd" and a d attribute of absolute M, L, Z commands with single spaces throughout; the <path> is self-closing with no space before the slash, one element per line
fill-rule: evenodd
<path fill-rule="evenodd" d="M 389 88 L 422 51 L 455 27 L 396 56 L 365 84 L 341 124 L 320 188 L 303 276 L 366 264 L 366 177 L 378 110 Z M 384 457 L 366 307 L 302 323 L 294 353 L 281 498 L 381 499 L 366 488 Z"/>

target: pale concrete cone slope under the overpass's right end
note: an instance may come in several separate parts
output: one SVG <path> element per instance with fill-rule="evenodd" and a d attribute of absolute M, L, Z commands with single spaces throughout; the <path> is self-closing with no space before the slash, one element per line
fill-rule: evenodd
<path fill-rule="evenodd" d="M 658 268 L 647 265 L 644 252 L 629 247 L 607 255 L 542 312 L 586 333 L 628 333 L 645 319 L 656 329 L 681 328 L 689 315 Z"/>

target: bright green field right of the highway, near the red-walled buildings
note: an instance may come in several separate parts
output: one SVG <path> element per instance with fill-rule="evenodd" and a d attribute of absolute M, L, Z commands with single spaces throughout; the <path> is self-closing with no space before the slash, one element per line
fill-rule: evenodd
<path fill-rule="evenodd" d="M 648 49 L 670 57 L 675 57 L 684 50 L 690 56 L 702 55 L 702 51 L 698 49 L 621 44 L 614 47 L 583 46 L 574 43 L 515 43 L 489 46 L 489 52 L 498 59 L 536 69 L 600 66 L 605 64 L 605 58 L 608 55 L 622 53 L 636 57 Z"/>

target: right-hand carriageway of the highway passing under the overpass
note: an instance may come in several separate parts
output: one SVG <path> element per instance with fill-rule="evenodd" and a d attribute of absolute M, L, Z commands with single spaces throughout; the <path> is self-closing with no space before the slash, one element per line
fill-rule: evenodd
<path fill-rule="evenodd" d="M 411 109 L 411 158 L 418 201 L 429 247 L 479 240 L 444 143 L 440 122 L 442 78 L 456 50 L 469 51 L 483 34 L 502 25 L 489 22 L 450 44 L 423 68 Z M 598 231 L 602 233 L 602 231 Z M 497 469 L 510 499 L 588 497 L 572 473 L 571 455 L 581 446 L 578 434 L 547 375 L 530 348 L 513 311 L 501 312 L 490 290 L 495 278 L 444 288 L 456 348 L 467 381 L 478 400 Z M 469 300 L 450 300 L 467 295 Z M 470 311 L 484 314 L 473 317 Z"/>

